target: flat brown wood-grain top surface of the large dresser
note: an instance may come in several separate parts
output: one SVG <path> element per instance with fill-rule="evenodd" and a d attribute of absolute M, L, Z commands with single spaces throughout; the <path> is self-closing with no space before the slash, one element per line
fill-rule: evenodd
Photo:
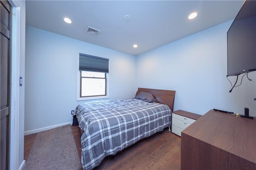
<path fill-rule="evenodd" d="M 210 110 L 182 133 L 256 163 L 255 118 Z"/>

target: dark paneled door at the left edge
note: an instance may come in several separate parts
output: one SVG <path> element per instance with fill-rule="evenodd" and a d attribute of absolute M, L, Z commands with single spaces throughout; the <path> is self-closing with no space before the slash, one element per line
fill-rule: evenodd
<path fill-rule="evenodd" d="M 9 169 L 10 152 L 10 30 L 11 6 L 1 0 L 1 40 L 0 40 L 0 169 Z"/>

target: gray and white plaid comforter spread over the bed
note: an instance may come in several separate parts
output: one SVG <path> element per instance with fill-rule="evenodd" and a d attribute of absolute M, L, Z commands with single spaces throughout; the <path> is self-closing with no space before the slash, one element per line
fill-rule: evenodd
<path fill-rule="evenodd" d="M 140 99 L 94 101 L 78 105 L 76 115 L 82 134 L 82 166 L 92 169 L 108 155 L 171 125 L 167 105 Z"/>

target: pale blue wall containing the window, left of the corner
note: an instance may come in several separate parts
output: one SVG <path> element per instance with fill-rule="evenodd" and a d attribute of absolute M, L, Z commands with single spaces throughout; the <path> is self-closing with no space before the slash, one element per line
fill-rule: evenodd
<path fill-rule="evenodd" d="M 109 58 L 110 98 L 134 97 L 136 58 L 26 26 L 25 133 L 72 121 L 78 53 Z"/>

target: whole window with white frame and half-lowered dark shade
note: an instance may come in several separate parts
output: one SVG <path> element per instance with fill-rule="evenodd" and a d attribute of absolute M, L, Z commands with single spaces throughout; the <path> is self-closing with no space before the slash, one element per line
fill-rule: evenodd
<path fill-rule="evenodd" d="M 77 100 L 108 98 L 108 59 L 79 53 Z"/>

